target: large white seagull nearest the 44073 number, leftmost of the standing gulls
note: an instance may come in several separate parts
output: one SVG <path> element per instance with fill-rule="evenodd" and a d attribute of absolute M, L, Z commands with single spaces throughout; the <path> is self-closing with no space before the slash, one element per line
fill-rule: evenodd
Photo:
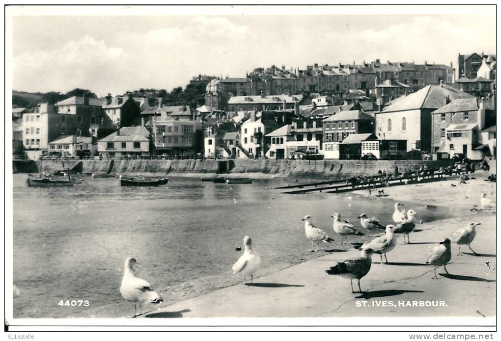
<path fill-rule="evenodd" d="M 141 265 L 137 263 L 136 258 L 128 257 L 125 259 L 124 276 L 120 285 L 120 293 L 126 300 L 134 302 L 133 317 L 136 317 L 136 302 L 139 302 L 139 315 L 141 315 L 141 306 L 143 303 L 159 304 L 163 302 L 162 297 L 153 290 L 150 283 L 134 275 L 134 271 L 140 268 Z"/>

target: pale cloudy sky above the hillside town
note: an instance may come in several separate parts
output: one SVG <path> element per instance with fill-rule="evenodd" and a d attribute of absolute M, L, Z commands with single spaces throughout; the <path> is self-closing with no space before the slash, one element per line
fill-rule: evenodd
<path fill-rule="evenodd" d="M 457 68 L 458 52 L 494 54 L 496 46 L 495 10 L 310 15 L 305 9 L 299 15 L 299 8 L 296 15 L 284 15 L 267 8 L 226 15 L 206 8 L 190 16 L 144 10 L 137 16 L 78 16 L 77 10 L 57 17 L 36 11 L 13 15 L 13 89 L 64 93 L 78 87 L 98 96 L 139 88 L 170 91 L 198 74 L 245 77 L 271 65 L 303 69 L 375 59 L 453 62 Z"/>

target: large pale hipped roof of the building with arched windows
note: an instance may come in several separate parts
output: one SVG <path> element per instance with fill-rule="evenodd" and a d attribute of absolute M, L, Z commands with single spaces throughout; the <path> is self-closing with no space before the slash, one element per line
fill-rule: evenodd
<path fill-rule="evenodd" d="M 472 95 L 449 85 L 434 84 L 391 101 L 390 105 L 378 114 L 415 109 L 438 109 L 443 107 L 447 96 L 450 101 L 458 98 L 474 98 Z"/>

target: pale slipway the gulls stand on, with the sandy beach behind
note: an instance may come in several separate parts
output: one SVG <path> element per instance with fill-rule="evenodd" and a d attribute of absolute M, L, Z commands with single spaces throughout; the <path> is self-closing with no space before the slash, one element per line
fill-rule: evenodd
<path fill-rule="evenodd" d="M 484 191 L 490 191 L 489 196 L 494 198 L 495 184 L 481 179 L 456 187 L 451 183 L 458 182 L 450 180 L 388 189 L 392 198 L 411 196 L 414 201 L 439 204 L 441 197 L 444 205 L 458 205 L 464 213 L 417 225 L 410 245 L 404 245 L 399 236 L 397 247 L 388 253 L 389 264 L 379 264 L 379 255 L 375 254 L 370 272 L 361 281 L 365 293 L 352 293 L 348 279 L 325 272 L 337 261 L 358 257 L 360 251 L 354 247 L 338 251 L 335 243 L 323 244 L 319 252 L 325 253 L 324 256 L 255 278 L 254 286 L 239 284 L 218 289 L 143 312 L 141 317 L 457 316 L 470 317 L 471 324 L 492 323 L 493 320 L 486 317 L 495 317 L 495 210 L 472 212 L 470 209 L 479 203 Z M 452 244 L 452 259 L 447 266 L 450 275 L 441 267 L 437 269 L 439 279 L 432 279 L 433 267 L 425 265 L 429 250 L 471 221 L 481 223 L 471 244 L 479 255 L 474 256 L 463 246 L 463 255 L 459 256 L 457 245 Z M 325 229 L 328 233 L 331 231 Z M 310 245 L 305 237 L 305 252 Z M 235 254 L 235 260 L 237 256 Z M 228 269 L 231 265 L 228 264 Z M 259 276 L 259 270 L 256 274 Z M 439 306 L 399 306 L 419 305 L 419 301 Z M 335 320 L 331 323 L 336 324 Z M 390 324 L 393 323 L 391 320 Z"/>

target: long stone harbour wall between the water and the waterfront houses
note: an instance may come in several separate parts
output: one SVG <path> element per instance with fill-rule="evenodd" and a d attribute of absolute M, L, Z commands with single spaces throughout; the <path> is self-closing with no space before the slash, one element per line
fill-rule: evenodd
<path fill-rule="evenodd" d="M 111 160 L 44 160 L 42 170 L 53 172 L 82 162 L 84 173 L 106 173 Z M 64 165 L 63 165 L 64 164 Z M 112 172 L 145 176 L 246 176 L 252 178 L 333 179 L 377 174 L 378 170 L 394 173 L 415 170 L 421 165 L 438 169 L 449 160 L 115 160 Z M 36 164 L 40 167 L 40 164 Z M 31 170 L 36 172 L 37 170 Z"/>

